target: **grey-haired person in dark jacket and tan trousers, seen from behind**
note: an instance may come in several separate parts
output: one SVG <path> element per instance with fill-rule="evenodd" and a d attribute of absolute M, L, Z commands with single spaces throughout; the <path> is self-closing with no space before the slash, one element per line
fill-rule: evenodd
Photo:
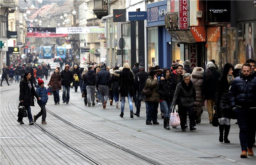
<path fill-rule="evenodd" d="M 212 124 L 215 89 L 220 73 L 216 71 L 215 65 L 211 61 L 206 64 L 206 68 L 207 70 L 203 75 L 202 96 L 207 101 L 209 121 Z"/>

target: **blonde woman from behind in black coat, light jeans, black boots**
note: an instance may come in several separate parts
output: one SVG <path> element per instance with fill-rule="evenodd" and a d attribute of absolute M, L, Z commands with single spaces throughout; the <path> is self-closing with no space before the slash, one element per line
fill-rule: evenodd
<path fill-rule="evenodd" d="M 123 70 L 119 76 L 119 86 L 120 86 L 120 94 L 121 94 L 121 114 L 120 117 L 124 116 L 124 102 L 125 97 L 128 97 L 129 107 L 130 107 L 130 117 L 133 117 L 133 107 L 132 107 L 132 96 L 133 89 L 132 85 L 134 82 L 134 77 L 130 65 L 128 63 L 124 63 Z"/>

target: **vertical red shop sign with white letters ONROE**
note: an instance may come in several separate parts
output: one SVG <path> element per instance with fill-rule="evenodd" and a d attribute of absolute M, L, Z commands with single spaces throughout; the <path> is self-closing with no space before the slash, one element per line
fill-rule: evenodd
<path fill-rule="evenodd" d="M 188 0 L 179 1 L 180 29 L 188 29 Z"/>

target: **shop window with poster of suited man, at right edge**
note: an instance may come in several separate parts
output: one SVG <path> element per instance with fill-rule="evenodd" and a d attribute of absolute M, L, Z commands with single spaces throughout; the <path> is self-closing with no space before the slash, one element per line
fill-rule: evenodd
<path fill-rule="evenodd" d="M 238 24 L 238 64 L 249 58 L 256 59 L 256 22 Z"/>

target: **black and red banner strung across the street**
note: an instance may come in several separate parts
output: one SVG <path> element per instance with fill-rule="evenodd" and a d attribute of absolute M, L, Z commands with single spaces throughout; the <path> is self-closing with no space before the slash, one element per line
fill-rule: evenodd
<path fill-rule="evenodd" d="M 56 34 L 55 27 L 28 27 L 27 37 L 67 37 L 68 34 Z"/>

